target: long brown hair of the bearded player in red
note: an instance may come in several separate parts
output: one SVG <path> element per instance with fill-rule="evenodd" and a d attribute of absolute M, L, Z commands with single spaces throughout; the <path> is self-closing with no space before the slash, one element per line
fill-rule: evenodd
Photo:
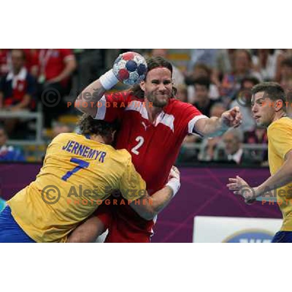
<path fill-rule="evenodd" d="M 172 65 L 163 57 L 161 56 L 150 57 L 146 59 L 146 62 L 147 62 L 147 72 L 155 68 L 164 67 L 164 68 L 167 68 L 171 72 L 171 77 L 172 77 L 172 71 L 173 71 Z M 147 74 L 145 76 L 145 79 L 146 78 L 147 78 Z M 131 91 L 131 93 L 138 98 L 144 98 L 144 91 L 140 88 L 139 84 L 136 84 L 133 87 L 131 87 L 129 91 Z M 174 97 L 176 93 L 177 93 L 177 89 L 173 86 L 172 97 Z"/>

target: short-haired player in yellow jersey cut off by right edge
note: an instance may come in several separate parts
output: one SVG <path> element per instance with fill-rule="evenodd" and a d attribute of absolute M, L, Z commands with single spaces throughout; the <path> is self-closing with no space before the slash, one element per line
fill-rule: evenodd
<path fill-rule="evenodd" d="M 252 112 L 257 125 L 267 127 L 271 177 L 251 188 L 242 178 L 230 178 L 228 188 L 250 204 L 259 196 L 268 200 L 273 194 L 283 214 L 281 230 L 272 242 L 292 242 L 292 119 L 285 91 L 275 82 L 264 82 L 252 89 Z M 264 199 L 263 199 L 264 200 Z"/>

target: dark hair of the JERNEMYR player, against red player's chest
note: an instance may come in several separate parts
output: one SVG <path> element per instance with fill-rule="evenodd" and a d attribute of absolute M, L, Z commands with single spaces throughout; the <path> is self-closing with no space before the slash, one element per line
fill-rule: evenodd
<path fill-rule="evenodd" d="M 80 134 L 95 134 L 102 137 L 109 137 L 117 130 L 117 122 L 108 123 L 101 120 L 93 119 L 89 114 L 84 113 L 79 121 L 77 127 L 80 130 Z"/>

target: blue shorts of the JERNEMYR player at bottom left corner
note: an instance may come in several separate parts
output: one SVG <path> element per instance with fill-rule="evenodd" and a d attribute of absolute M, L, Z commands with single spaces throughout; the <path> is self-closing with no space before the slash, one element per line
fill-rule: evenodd
<path fill-rule="evenodd" d="M 20 228 L 9 206 L 0 213 L 0 242 L 36 242 Z"/>

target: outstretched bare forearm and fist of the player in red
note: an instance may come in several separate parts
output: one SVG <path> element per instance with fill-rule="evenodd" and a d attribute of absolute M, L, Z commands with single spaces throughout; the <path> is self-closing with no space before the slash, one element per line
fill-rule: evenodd
<path fill-rule="evenodd" d="M 211 117 L 197 121 L 194 132 L 199 132 L 206 137 L 222 135 L 230 127 L 238 127 L 241 124 L 242 115 L 238 107 L 222 113 L 220 118 Z"/>

